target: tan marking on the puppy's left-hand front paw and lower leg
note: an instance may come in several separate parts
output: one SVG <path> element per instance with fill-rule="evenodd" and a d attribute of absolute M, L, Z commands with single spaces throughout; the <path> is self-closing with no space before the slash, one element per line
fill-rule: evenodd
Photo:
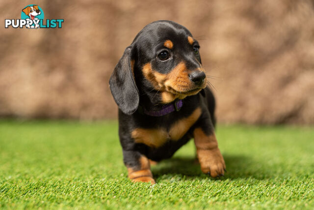
<path fill-rule="evenodd" d="M 128 167 L 128 176 L 134 181 L 142 181 L 142 182 L 151 182 L 155 184 L 155 180 L 153 179 L 153 174 L 151 172 L 151 166 L 147 157 L 142 155 L 139 159 L 140 162 L 140 170 L 134 170 L 131 167 Z"/>

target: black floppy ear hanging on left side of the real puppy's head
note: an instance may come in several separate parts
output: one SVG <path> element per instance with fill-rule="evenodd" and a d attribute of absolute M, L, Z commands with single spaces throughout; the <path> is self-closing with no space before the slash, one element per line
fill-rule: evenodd
<path fill-rule="evenodd" d="M 139 93 L 134 80 L 134 63 L 132 62 L 131 65 L 131 60 L 134 60 L 132 51 L 134 51 L 132 46 L 126 48 L 109 80 L 109 87 L 115 102 L 127 115 L 133 114 L 139 103 Z"/>

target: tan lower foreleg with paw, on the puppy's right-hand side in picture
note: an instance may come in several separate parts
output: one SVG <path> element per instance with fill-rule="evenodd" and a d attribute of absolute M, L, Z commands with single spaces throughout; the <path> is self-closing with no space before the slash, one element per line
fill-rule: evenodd
<path fill-rule="evenodd" d="M 196 128 L 193 134 L 202 172 L 205 174 L 210 173 L 211 177 L 223 175 L 226 165 L 218 149 L 215 134 L 208 136 L 201 128 Z"/>

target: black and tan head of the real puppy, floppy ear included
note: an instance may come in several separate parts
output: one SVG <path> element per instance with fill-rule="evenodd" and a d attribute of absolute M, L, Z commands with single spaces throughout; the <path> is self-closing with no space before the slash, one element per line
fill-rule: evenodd
<path fill-rule="evenodd" d="M 141 30 L 114 69 L 109 84 L 119 108 L 136 111 L 141 94 L 170 103 L 206 87 L 199 43 L 183 26 L 156 21 Z"/>

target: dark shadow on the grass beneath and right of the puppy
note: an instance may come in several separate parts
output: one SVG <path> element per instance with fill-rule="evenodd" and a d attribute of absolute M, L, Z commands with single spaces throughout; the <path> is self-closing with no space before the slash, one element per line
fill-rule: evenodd
<path fill-rule="evenodd" d="M 270 172 L 259 171 L 260 163 L 255 162 L 252 158 L 244 155 L 228 155 L 223 154 L 227 172 L 222 179 L 249 179 L 258 180 L 268 179 L 271 177 Z M 202 173 L 200 164 L 194 157 L 173 157 L 168 160 L 161 161 L 152 166 L 152 172 L 155 178 L 165 175 L 181 175 L 186 179 L 194 179 L 195 177 L 207 178 L 208 175 Z"/>

